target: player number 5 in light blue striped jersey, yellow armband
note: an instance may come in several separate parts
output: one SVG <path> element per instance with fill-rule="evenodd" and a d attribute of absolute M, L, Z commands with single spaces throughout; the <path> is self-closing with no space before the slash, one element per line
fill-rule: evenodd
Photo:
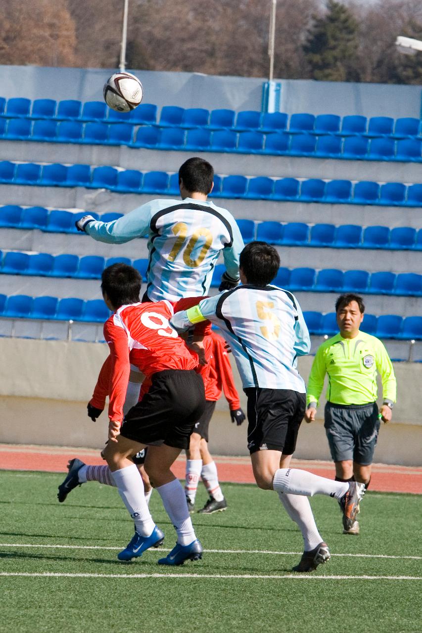
<path fill-rule="evenodd" d="M 203 320 L 219 325 L 229 342 L 248 397 L 248 449 L 258 486 L 278 492 L 288 515 L 304 537 L 304 553 L 295 572 L 310 572 L 330 558 L 310 509 L 308 496 L 334 497 L 354 520 L 364 484 L 335 482 L 290 468 L 305 413 L 305 383 L 297 356 L 310 351 L 302 310 L 290 292 L 270 285 L 280 260 L 265 242 L 251 242 L 240 254 L 243 285 L 172 317 L 185 330 Z"/>

